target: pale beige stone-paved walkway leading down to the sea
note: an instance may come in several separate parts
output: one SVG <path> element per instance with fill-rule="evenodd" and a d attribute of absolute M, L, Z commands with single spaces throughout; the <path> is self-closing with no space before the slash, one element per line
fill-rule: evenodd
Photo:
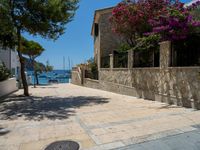
<path fill-rule="evenodd" d="M 192 109 L 71 84 L 30 88 L 29 98 L 21 92 L 0 101 L 0 150 L 43 150 L 59 140 L 81 149 L 134 150 L 200 133 L 200 111 Z M 199 146 L 195 137 L 184 143 Z"/>

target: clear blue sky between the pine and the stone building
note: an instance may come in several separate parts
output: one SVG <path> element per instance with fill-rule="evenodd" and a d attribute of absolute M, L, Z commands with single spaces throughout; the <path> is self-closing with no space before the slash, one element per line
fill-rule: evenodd
<path fill-rule="evenodd" d="M 93 57 L 93 38 L 90 33 L 94 11 L 115 6 L 120 1 L 80 0 L 74 20 L 67 24 L 65 34 L 55 42 L 25 34 L 26 38 L 39 42 L 45 48 L 45 52 L 37 60 L 43 63 L 49 60 L 54 69 L 63 69 L 63 57 L 66 59 L 67 69 L 69 68 L 68 58 L 73 65 L 86 62 L 87 59 Z"/>

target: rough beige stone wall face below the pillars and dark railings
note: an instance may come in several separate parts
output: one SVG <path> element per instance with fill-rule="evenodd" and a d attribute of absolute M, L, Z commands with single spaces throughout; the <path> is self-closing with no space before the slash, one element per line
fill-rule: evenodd
<path fill-rule="evenodd" d="M 101 69 L 100 83 L 114 92 L 110 83 L 121 87 L 118 93 L 200 109 L 200 67 Z M 123 87 L 131 90 L 124 92 Z"/>

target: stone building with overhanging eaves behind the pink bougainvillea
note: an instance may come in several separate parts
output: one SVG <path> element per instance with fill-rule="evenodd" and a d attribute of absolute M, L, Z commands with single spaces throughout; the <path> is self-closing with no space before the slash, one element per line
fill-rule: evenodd
<path fill-rule="evenodd" d="M 116 50 L 122 39 L 113 33 L 109 18 L 112 14 L 113 7 L 99 9 L 95 11 L 94 21 L 92 25 L 91 35 L 94 37 L 94 59 L 101 68 L 106 60 L 101 61 L 103 58 L 108 58 Z M 108 62 L 109 63 L 109 62 Z"/>

